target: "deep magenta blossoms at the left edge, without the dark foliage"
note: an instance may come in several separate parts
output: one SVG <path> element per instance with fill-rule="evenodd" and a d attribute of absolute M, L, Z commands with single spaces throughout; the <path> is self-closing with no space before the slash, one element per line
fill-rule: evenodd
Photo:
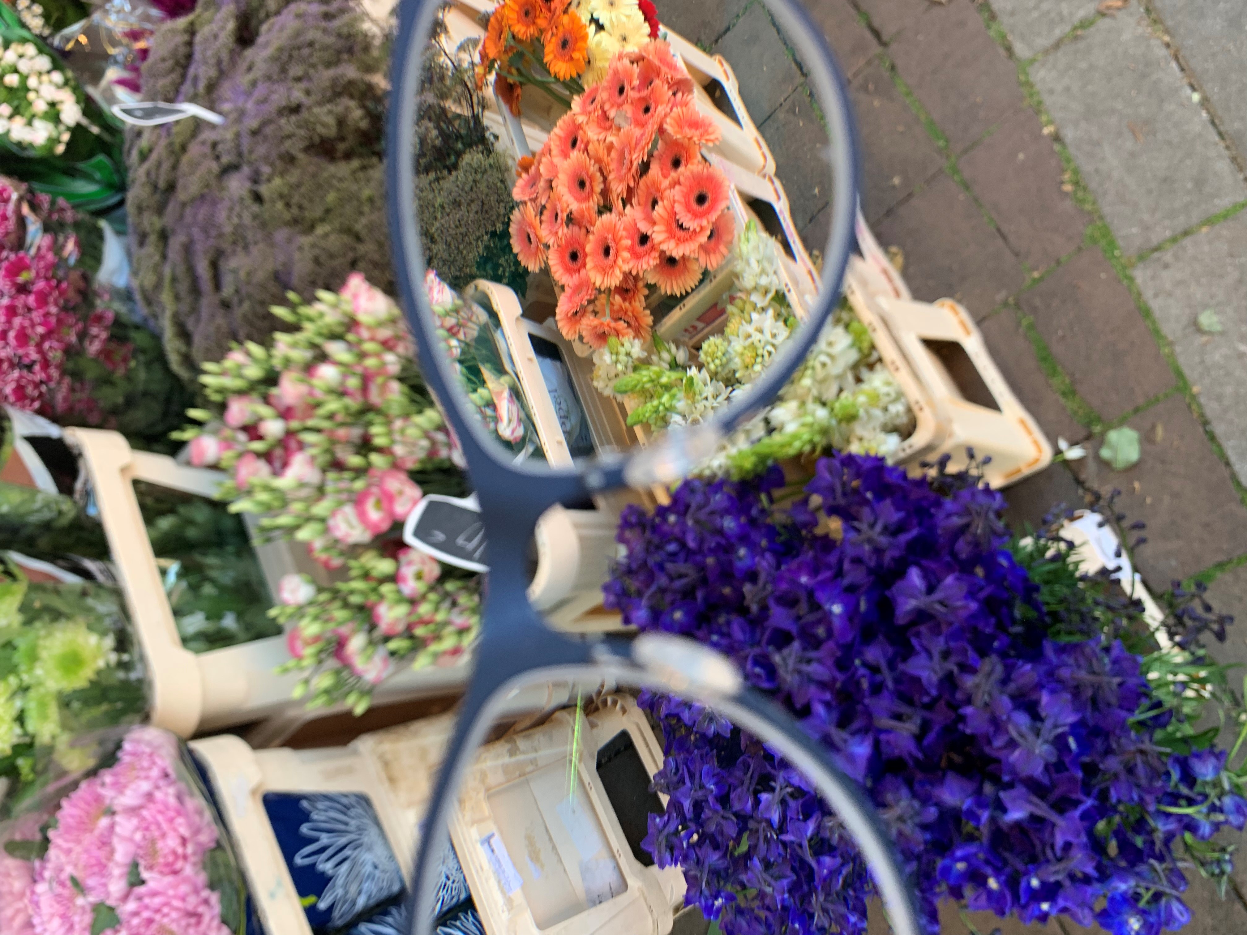
<path fill-rule="evenodd" d="M 79 239 L 70 206 L 0 177 L 0 403 L 50 419 L 99 425 L 91 384 L 69 375 L 94 358 L 120 376 L 132 348 L 112 340 L 113 314 L 95 307 L 76 268 Z"/>

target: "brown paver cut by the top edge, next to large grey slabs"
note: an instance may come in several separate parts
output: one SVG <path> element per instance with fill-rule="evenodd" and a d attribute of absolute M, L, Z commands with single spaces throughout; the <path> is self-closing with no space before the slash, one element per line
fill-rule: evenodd
<path fill-rule="evenodd" d="M 932 6 L 888 54 L 956 152 L 1024 106 L 1016 67 L 970 0 Z"/>

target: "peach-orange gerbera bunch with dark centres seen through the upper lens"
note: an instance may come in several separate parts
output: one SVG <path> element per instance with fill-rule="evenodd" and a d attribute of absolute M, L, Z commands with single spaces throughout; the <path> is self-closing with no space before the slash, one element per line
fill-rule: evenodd
<path fill-rule="evenodd" d="M 718 128 L 692 92 L 667 42 L 617 52 L 515 183 L 511 246 L 550 271 L 569 340 L 647 340 L 650 290 L 683 295 L 728 257 L 731 185 L 702 156 Z"/>

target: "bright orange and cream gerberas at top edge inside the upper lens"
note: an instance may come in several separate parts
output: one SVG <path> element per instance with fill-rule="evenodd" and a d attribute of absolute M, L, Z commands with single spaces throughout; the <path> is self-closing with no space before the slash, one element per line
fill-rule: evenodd
<path fill-rule="evenodd" d="M 476 82 L 490 75 L 519 116 L 525 87 L 571 107 L 571 98 L 606 76 L 621 51 L 658 37 L 651 0 L 505 0 L 489 16 Z"/>

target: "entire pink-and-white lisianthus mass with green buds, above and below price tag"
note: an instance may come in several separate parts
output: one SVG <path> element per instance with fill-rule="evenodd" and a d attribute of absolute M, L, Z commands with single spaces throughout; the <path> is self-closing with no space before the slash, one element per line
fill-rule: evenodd
<path fill-rule="evenodd" d="M 471 643 L 475 576 L 403 547 L 398 529 L 425 490 L 463 492 L 441 415 L 415 372 L 398 307 L 362 274 L 273 314 L 297 330 L 234 347 L 200 378 L 219 413 L 182 434 L 191 463 L 232 474 L 219 496 L 259 529 L 306 542 L 339 572 L 317 588 L 282 582 L 301 694 L 363 709 L 400 664 L 453 664 Z"/>

